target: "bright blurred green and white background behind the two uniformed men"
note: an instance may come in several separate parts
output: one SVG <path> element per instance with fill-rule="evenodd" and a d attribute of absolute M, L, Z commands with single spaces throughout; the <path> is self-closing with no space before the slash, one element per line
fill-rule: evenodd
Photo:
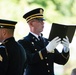
<path fill-rule="evenodd" d="M 17 21 L 15 39 L 26 36 L 29 27 L 23 15 L 34 8 L 44 9 L 45 27 L 43 36 L 48 38 L 52 23 L 76 25 L 76 0 L 0 0 L 0 19 Z M 76 68 L 76 32 L 70 44 L 69 61 L 63 65 L 55 64 L 55 75 L 71 75 Z M 61 45 L 59 46 L 60 49 Z"/>

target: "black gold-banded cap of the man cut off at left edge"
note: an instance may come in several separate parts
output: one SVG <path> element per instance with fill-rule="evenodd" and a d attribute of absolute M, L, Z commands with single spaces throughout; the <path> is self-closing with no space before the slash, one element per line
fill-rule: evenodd
<path fill-rule="evenodd" d="M 0 28 L 15 29 L 16 21 L 0 19 Z"/>

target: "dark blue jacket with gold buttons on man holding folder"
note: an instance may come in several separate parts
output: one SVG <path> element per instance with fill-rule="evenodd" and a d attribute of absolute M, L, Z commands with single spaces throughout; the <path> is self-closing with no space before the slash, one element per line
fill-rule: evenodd
<path fill-rule="evenodd" d="M 64 53 L 63 50 L 62 53 L 57 49 L 48 53 L 46 50 L 48 40 L 43 38 L 43 42 L 39 42 L 31 33 L 19 40 L 19 43 L 26 50 L 26 75 L 54 75 L 54 63 L 64 65 L 69 59 L 69 52 Z"/>

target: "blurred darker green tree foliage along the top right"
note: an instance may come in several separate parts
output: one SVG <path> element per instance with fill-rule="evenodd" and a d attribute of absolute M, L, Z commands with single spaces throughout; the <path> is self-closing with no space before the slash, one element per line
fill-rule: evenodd
<path fill-rule="evenodd" d="M 74 0 L 27 0 L 29 5 L 32 4 L 38 4 L 43 6 L 44 8 L 47 8 L 48 2 L 51 4 L 51 2 L 55 5 L 55 10 L 58 11 L 63 16 L 72 16 L 72 7 Z"/>

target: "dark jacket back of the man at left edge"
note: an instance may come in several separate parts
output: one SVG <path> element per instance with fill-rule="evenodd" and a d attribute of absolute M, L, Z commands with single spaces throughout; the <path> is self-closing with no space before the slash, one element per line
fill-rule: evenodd
<path fill-rule="evenodd" d="M 2 45 L 5 46 L 5 53 L 3 58 L 5 62 L 4 66 L 0 67 L 3 69 L 3 72 L 0 72 L 0 75 L 23 75 L 24 64 L 26 61 L 26 54 L 23 47 L 18 44 L 13 37 L 6 39 Z"/>

